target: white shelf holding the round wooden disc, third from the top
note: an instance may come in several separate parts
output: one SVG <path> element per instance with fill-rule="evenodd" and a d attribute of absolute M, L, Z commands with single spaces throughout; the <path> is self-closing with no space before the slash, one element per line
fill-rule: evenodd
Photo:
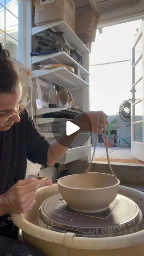
<path fill-rule="evenodd" d="M 76 76 L 65 67 L 51 68 L 47 70 L 33 70 L 32 78 L 38 76 L 42 76 L 50 82 L 56 83 L 65 88 L 90 86 L 86 81 Z"/>

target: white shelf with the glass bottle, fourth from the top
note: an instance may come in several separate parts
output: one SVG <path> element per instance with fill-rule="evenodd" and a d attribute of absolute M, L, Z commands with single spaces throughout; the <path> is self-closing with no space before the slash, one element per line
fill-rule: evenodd
<path fill-rule="evenodd" d="M 40 115 L 52 113 L 52 112 L 60 112 L 60 111 L 62 111 L 62 113 L 64 114 L 74 114 L 74 116 L 80 113 L 80 111 L 73 110 L 70 108 L 38 108 L 36 109 L 36 116 L 40 116 Z"/>

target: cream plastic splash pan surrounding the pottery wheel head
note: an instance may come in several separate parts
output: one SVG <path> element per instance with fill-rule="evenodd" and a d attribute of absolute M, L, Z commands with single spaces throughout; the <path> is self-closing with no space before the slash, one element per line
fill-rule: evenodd
<path fill-rule="evenodd" d="M 46 256 L 143 256 L 144 230 L 125 236 L 108 238 L 76 237 L 74 233 L 59 233 L 38 226 L 38 208 L 42 202 L 58 194 L 58 185 L 39 188 L 36 204 L 26 214 L 12 214 L 22 230 L 24 242 L 40 249 Z M 119 194 L 132 199 L 144 213 L 144 193 L 120 186 Z"/>

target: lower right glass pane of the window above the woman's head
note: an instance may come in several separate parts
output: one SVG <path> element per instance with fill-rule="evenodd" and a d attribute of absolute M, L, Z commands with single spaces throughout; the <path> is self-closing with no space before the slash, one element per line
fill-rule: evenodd
<path fill-rule="evenodd" d="M 18 60 L 18 42 L 6 35 L 6 49 L 10 52 L 10 57 Z"/>

